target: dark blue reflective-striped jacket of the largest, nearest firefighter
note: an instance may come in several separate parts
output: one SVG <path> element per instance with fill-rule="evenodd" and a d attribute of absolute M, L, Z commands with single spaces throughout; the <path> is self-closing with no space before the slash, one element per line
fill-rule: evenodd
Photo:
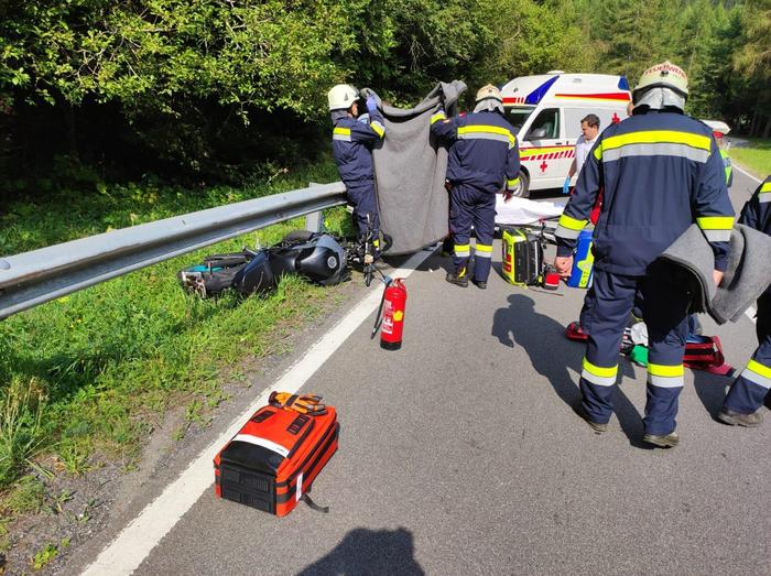
<path fill-rule="evenodd" d="M 556 230 L 568 256 L 604 191 L 595 265 L 643 275 L 696 222 L 725 270 L 734 226 L 725 166 L 710 129 L 688 116 L 649 112 L 609 126 L 582 170 Z"/>

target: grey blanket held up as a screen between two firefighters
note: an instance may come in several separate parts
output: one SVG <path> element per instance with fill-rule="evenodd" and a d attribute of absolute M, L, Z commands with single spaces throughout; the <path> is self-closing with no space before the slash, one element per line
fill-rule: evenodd
<path fill-rule="evenodd" d="M 386 138 L 372 150 L 372 161 L 380 228 L 393 238 L 389 254 L 414 252 L 447 236 L 447 151 L 431 138 L 431 116 L 442 94 L 445 110 L 452 116 L 465 90 L 466 84 L 460 80 L 439 83 L 409 110 L 378 101 L 386 121 Z M 369 88 L 361 93 L 374 94 Z"/>

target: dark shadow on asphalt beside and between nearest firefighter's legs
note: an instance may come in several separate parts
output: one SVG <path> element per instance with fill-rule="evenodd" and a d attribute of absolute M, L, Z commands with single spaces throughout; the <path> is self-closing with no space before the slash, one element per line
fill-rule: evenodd
<path fill-rule="evenodd" d="M 509 348 L 520 346 L 530 357 L 537 373 L 546 378 L 557 396 L 578 414 L 580 390 L 577 377 L 568 371 L 574 367 L 580 373 L 585 346 L 565 337 L 565 327 L 554 318 L 535 311 L 535 303 L 524 294 L 514 293 L 508 297 L 509 306 L 499 308 L 493 315 L 492 336 Z M 631 365 L 619 358 L 621 374 L 634 378 Z M 628 384 L 629 385 L 629 384 Z M 636 384 L 631 384 L 636 385 Z M 644 383 L 642 384 L 644 385 Z M 642 416 L 621 387 L 613 392 L 613 412 L 629 444 L 641 449 L 651 449 L 642 443 Z"/>

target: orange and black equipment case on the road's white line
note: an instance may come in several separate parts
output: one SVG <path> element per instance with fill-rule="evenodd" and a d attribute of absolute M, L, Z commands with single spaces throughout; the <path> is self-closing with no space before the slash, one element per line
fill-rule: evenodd
<path fill-rule="evenodd" d="M 337 413 L 263 406 L 215 456 L 215 493 L 283 517 L 311 491 L 337 450 Z"/>

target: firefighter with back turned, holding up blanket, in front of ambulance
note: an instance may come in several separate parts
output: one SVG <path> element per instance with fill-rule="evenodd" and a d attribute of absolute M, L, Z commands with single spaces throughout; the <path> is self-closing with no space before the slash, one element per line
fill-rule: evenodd
<path fill-rule="evenodd" d="M 431 132 L 449 144 L 447 187 L 449 229 L 454 241 L 453 272 L 446 280 L 468 286 L 471 226 L 476 231 L 471 281 L 487 287 L 496 226 L 496 194 L 506 188 L 510 199 L 519 186 L 520 153 L 514 129 L 503 119 L 500 90 L 488 84 L 477 93 L 474 112 L 447 119 L 439 104 Z"/>

